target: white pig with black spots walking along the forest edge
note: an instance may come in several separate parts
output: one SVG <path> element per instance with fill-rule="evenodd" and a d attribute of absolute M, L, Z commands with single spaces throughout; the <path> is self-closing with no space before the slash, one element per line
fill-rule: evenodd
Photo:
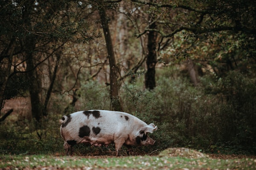
<path fill-rule="evenodd" d="M 146 124 L 125 112 L 88 110 L 62 116 L 61 137 L 67 155 L 72 155 L 72 146 L 86 143 L 95 146 L 115 144 L 116 156 L 123 144 L 130 146 L 153 145 L 148 136 L 157 130 L 153 123 Z"/>

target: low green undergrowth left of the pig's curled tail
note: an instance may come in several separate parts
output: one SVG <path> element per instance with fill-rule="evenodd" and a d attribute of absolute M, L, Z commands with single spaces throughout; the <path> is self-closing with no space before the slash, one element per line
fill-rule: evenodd
<path fill-rule="evenodd" d="M 0 153 L 3 154 L 47 154 L 63 150 L 60 138 L 58 118 L 50 115 L 44 120 L 41 130 L 35 130 L 33 121 L 23 124 L 17 121 L 12 124 L 1 124 Z M 54 149 L 53 149 L 54 148 Z"/>

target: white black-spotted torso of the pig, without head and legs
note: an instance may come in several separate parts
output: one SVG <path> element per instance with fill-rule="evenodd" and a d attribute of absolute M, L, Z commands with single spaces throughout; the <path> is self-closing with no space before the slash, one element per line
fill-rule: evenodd
<path fill-rule="evenodd" d="M 73 138 L 84 136 L 104 137 L 121 135 L 122 133 L 131 133 L 137 129 L 139 124 L 146 126 L 145 122 L 141 121 L 133 115 L 125 112 L 116 112 L 108 110 L 88 110 L 79 111 L 70 114 L 70 123 L 63 131 L 69 131 Z M 71 137 L 70 136 L 70 137 Z"/>

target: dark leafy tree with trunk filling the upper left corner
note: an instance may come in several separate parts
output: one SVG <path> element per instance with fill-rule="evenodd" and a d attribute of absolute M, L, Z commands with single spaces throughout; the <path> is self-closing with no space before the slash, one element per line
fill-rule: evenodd
<path fill-rule="evenodd" d="M 26 75 L 24 82 L 29 89 L 33 117 L 39 122 L 47 115 L 47 104 L 61 58 L 59 49 L 67 42 L 85 43 L 94 36 L 83 27 L 84 15 L 80 17 L 80 13 L 75 13 L 74 6 L 77 7 L 77 3 L 73 1 L 1 1 L 0 69 L 4 72 L 0 79 L 3 87 L 0 91 L 1 108 L 6 99 L 22 93 L 17 85 L 6 88 L 11 80 L 17 75 Z M 77 16 L 75 20 L 74 16 Z M 46 61 L 54 68 L 48 73 L 44 69 Z M 13 89 L 15 92 L 10 93 Z M 46 97 L 43 89 L 47 91 Z"/>

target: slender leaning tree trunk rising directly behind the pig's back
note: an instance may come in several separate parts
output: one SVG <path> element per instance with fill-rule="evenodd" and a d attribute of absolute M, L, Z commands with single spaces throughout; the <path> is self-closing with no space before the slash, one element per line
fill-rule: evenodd
<path fill-rule="evenodd" d="M 115 111 L 122 111 L 121 102 L 118 96 L 118 84 L 117 84 L 117 67 L 116 59 L 113 50 L 113 44 L 111 39 L 111 34 L 108 26 L 109 18 L 105 11 L 104 1 L 98 1 L 98 10 L 101 18 L 102 29 L 105 36 L 107 51 L 108 51 L 108 61 L 110 66 L 110 98 L 112 109 Z"/>

